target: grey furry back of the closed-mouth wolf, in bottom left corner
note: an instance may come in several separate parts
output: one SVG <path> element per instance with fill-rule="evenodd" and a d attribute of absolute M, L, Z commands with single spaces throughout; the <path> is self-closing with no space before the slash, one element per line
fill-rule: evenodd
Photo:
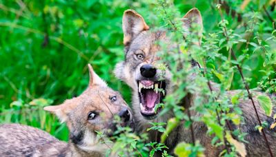
<path fill-rule="evenodd" d="M 0 146 L 0 156 L 51 156 L 66 143 L 34 127 L 4 124 L 0 125 Z"/>

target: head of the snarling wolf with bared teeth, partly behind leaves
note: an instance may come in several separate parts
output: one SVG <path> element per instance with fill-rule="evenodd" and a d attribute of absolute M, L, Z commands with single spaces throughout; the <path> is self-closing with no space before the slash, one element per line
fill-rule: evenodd
<path fill-rule="evenodd" d="M 196 8 L 188 11 L 184 16 L 183 28 L 186 30 L 184 36 L 190 34 L 193 23 L 199 25 L 197 34 L 201 36 L 202 19 Z M 157 41 L 169 43 L 168 46 L 171 47 L 176 43 L 171 43 L 164 31 L 150 31 L 144 18 L 134 10 L 124 12 L 123 31 L 126 58 L 115 67 L 115 75 L 132 87 L 134 112 L 136 116 L 138 113 L 143 117 L 139 121 L 155 119 L 160 112 L 160 109 L 155 112 L 155 107 L 158 103 L 162 103 L 172 86 L 170 71 L 168 69 L 161 71 L 156 67 L 157 61 L 162 60 L 157 54 L 161 49 Z M 198 39 L 194 42 L 197 45 L 201 38 Z M 163 89 L 164 92 L 156 90 L 157 88 Z"/>

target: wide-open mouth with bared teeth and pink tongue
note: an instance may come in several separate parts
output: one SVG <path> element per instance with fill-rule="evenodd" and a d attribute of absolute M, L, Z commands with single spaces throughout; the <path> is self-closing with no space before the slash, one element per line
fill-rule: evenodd
<path fill-rule="evenodd" d="M 138 94 L 141 114 L 148 119 L 153 119 L 160 112 L 159 103 L 163 103 L 166 96 L 165 81 L 138 81 Z"/>

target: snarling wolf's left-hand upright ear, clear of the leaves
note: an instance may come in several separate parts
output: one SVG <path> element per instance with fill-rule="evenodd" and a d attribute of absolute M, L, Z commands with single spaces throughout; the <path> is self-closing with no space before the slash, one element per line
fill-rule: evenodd
<path fill-rule="evenodd" d="M 144 21 L 144 18 L 134 10 L 126 10 L 123 16 L 123 31 L 124 31 L 124 45 L 129 45 L 132 39 L 142 32 L 150 28 Z"/>

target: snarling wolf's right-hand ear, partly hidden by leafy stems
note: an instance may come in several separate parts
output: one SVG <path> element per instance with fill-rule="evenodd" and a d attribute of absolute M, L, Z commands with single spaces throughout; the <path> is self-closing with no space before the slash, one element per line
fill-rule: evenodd
<path fill-rule="evenodd" d="M 197 30 L 195 30 L 196 34 L 199 37 L 199 41 L 196 42 L 195 44 L 200 45 L 201 43 L 201 36 L 202 36 L 202 30 L 203 30 L 203 24 L 202 24 L 202 17 L 201 14 L 199 12 L 199 10 L 197 8 L 193 8 L 191 10 L 189 10 L 183 19 L 183 28 L 184 28 L 184 36 L 188 36 L 188 34 L 190 34 L 193 30 L 193 25 L 198 26 L 199 28 Z"/>

